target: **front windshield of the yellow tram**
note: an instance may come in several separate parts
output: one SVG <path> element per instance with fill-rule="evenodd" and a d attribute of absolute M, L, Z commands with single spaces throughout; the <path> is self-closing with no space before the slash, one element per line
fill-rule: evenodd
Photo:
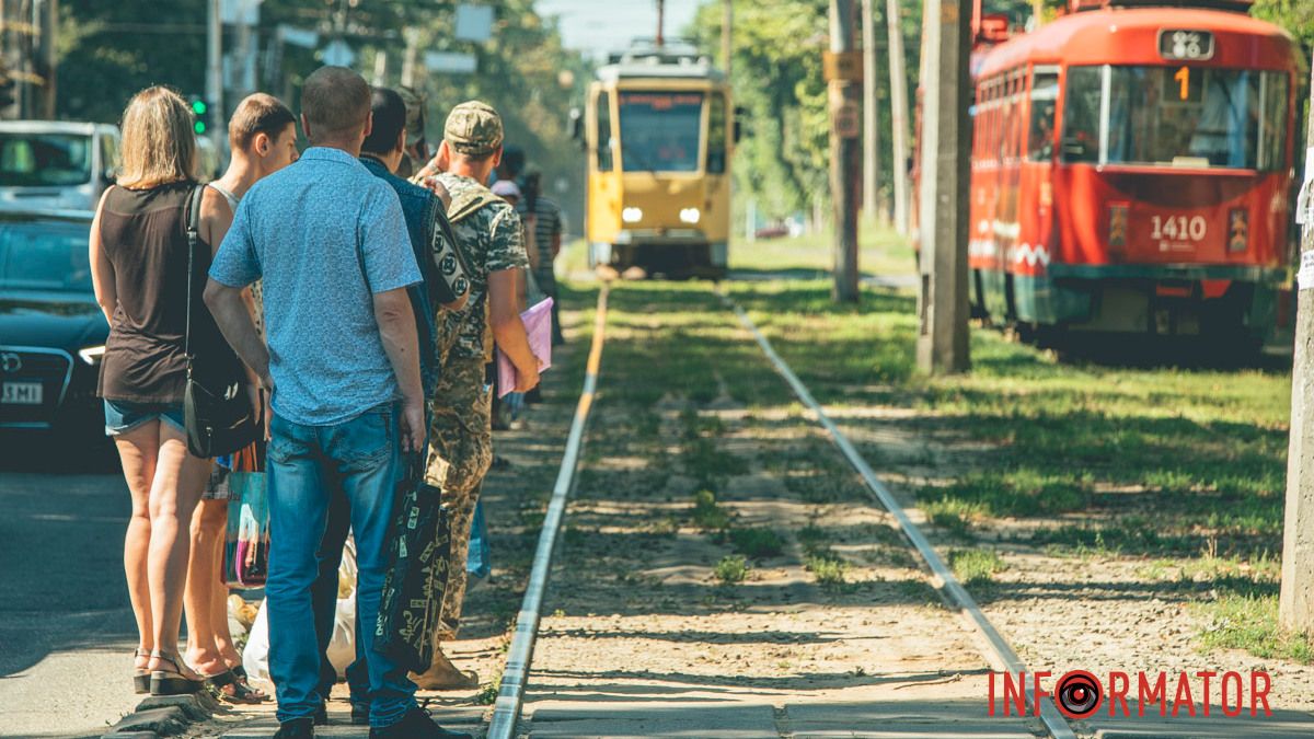
<path fill-rule="evenodd" d="M 702 92 L 622 92 L 619 104 L 624 171 L 698 171 Z"/>

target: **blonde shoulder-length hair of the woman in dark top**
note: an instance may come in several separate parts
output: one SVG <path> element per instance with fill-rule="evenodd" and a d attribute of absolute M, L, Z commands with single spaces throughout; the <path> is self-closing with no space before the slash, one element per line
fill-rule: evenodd
<path fill-rule="evenodd" d="M 118 184 L 147 189 L 196 179 L 192 109 L 167 87 L 147 87 L 124 110 Z"/>

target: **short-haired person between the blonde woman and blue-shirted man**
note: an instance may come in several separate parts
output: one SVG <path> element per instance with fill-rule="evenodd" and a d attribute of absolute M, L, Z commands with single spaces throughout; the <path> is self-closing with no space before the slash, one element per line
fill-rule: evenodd
<path fill-rule="evenodd" d="M 233 113 L 229 145 L 233 160 L 223 176 L 209 187 L 222 195 L 235 213 L 238 203 L 251 185 L 297 160 L 296 116 L 272 95 L 251 95 Z M 247 295 L 252 316 L 258 316 L 258 296 L 250 291 Z M 222 462 L 215 465 L 210 484 L 192 517 L 192 556 L 184 597 L 188 632 L 185 659 L 210 681 L 221 698 L 234 703 L 251 703 L 264 701 L 267 696 L 247 684 L 242 656 L 229 634 L 229 590 L 219 577 L 229 514 L 227 473 Z"/>

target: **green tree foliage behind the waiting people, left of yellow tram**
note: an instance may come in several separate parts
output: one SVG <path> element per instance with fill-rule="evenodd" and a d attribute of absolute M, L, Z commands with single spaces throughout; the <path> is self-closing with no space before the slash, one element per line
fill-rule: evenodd
<path fill-rule="evenodd" d="M 577 53 L 561 46 L 555 21 L 540 17 L 533 0 L 495 4 L 493 38 L 470 43 L 452 38 L 457 0 L 424 3 L 325 3 L 322 0 L 264 0 L 260 25 L 252 36 L 259 46 L 256 87 L 298 109 L 302 80 L 321 59 L 317 50 L 272 45 L 280 25 L 319 33 L 321 46 L 342 30 L 357 53 L 355 67 L 373 80 L 374 62 L 385 54 L 388 85 L 399 85 L 406 37 L 424 51 L 468 51 L 478 59 L 473 75 L 431 74 L 428 139 L 442 137 L 447 112 L 473 97 L 495 107 L 503 117 L 507 143 L 526 150 L 551 188 L 558 178 L 569 183 L 569 210 L 582 212 L 583 171 L 579 150 L 570 142 L 568 113 L 587 84 L 590 68 Z M 347 7 L 344 14 L 339 14 Z M 151 84 L 168 84 L 184 95 L 205 92 L 205 5 L 197 0 L 64 0 L 59 4 L 60 118 L 116 122 L 127 100 Z M 225 34 L 225 49 L 237 39 Z M 268 53 L 273 49 L 273 53 Z M 558 74 L 573 76 L 562 87 Z M 238 100 L 225 100 L 230 113 Z M 551 189 L 549 189 L 551 192 Z"/>

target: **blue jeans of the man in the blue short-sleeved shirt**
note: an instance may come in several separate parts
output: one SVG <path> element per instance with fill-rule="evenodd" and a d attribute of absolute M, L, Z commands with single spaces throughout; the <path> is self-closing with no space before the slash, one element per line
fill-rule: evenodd
<path fill-rule="evenodd" d="M 401 473 L 399 430 L 393 404 L 332 426 L 302 426 L 277 414 L 269 441 L 269 677 L 279 721 L 313 717 L 319 696 L 319 639 L 311 585 L 319 575 L 328 506 L 336 492 L 351 509 L 356 535 L 356 618 L 374 623 L 388 568 L 388 535 Z M 369 667 L 369 725 L 390 726 L 415 705 L 406 669 L 373 650 L 361 629 Z"/>

